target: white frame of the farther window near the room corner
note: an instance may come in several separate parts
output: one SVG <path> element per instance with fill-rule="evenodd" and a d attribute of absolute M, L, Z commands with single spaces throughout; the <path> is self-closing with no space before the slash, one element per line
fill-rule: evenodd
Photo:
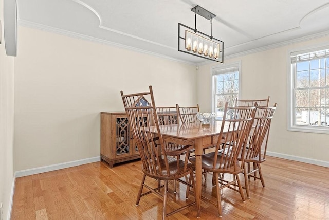
<path fill-rule="evenodd" d="M 238 99 L 240 99 L 241 97 L 241 61 L 235 62 L 235 63 L 231 63 L 231 64 L 225 64 L 225 65 L 217 65 L 217 66 L 213 66 L 211 67 L 211 80 L 212 80 L 212 111 L 216 112 L 216 82 L 214 80 L 214 76 L 218 75 L 216 72 L 218 71 L 222 71 L 221 74 L 225 74 L 225 71 L 227 70 L 227 72 L 231 72 L 232 69 L 237 69 L 239 71 L 239 90 L 237 92 L 237 97 Z M 218 120 L 218 119 L 216 119 Z"/>

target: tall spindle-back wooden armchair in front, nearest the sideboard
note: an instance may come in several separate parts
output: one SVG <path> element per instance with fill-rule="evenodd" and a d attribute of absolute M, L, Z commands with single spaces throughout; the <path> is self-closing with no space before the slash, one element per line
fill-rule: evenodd
<path fill-rule="evenodd" d="M 169 180 L 181 181 L 179 178 L 187 177 L 192 180 L 189 186 L 192 188 L 194 187 L 193 172 L 195 171 L 195 166 L 188 162 L 188 157 L 186 157 L 184 161 L 176 157 L 183 152 L 189 151 L 193 146 L 186 145 L 176 151 L 168 151 L 165 148 L 165 141 L 162 139 L 159 127 L 152 86 L 150 86 L 149 89 L 150 91 L 144 93 L 129 95 L 124 95 L 121 91 L 121 97 L 142 160 L 141 170 L 143 172 L 143 178 L 137 195 L 136 205 L 139 204 L 142 196 L 153 193 L 163 200 L 162 219 L 165 219 L 174 213 L 196 204 L 194 201 L 167 213 L 167 182 Z M 151 100 L 151 103 L 145 102 L 145 100 Z M 151 127 L 153 122 L 155 123 L 156 129 L 154 129 L 154 126 Z M 150 131 L 152 131 L 152 129 L 155 131 L 151 133 Z M 156 134 L 157 140 L 154 138 L 154 133 Z M 156 141 L 159 144 L 156 144 Z M 154 188 L 152 185 L 149 185 L 149 182 L 145 181 L 146 177 L 155 180 L 164 180 L 165 183 L 162 186 Z M 147 188 L 148 191 L 143 193 L 144 187 Z M 160 189 L 162 188 L 164 188 L 163 195 L 160 193 Z"/>

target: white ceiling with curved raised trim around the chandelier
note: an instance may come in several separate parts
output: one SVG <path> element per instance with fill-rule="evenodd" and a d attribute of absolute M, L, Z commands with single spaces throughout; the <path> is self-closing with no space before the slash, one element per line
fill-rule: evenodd
<path fill-rule="evenodd" d="M 194 28 L 196 5 L 216 15 L 212 35 L 224 41 L 224 63 L 238 53 L 329 34 L 326 0 L 17 0 L 19 25 L 200 64 L 207 60 L 177 50 L 178 23 Z M 210 35 L 210 21 L 197 15 L 197 29 Z"/>

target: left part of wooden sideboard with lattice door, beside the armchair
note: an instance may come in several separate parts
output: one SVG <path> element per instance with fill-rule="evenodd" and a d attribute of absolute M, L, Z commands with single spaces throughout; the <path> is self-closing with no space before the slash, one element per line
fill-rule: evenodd
<path fill-rule="evenodd" d="M 101 161 L 115 163 L 140 158 L 125 112 L 101 112 Z"/>

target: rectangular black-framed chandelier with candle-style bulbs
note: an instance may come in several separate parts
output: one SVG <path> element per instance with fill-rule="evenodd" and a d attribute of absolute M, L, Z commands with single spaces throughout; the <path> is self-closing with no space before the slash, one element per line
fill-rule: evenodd
<path fill-rule="evenodd" d="M 178 51 L 223 63 L 224 42 L 212 36 L 212 19 L 216 15 L 198 5 L 191 11 L 195 13 L 195 29 L 178 23 Z M 196 14 L 210 20 L 210 36 L 196 29 Z"/>

